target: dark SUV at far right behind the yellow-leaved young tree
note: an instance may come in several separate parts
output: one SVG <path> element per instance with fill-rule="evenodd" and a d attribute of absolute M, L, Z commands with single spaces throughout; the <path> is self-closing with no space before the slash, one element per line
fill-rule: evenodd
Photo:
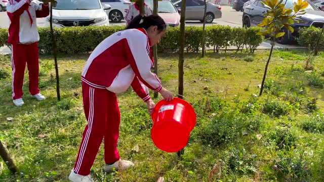
<path fill-rule="evenodd" d="M 286 8 L 294 9 L 294 3 L 298 0 L 287 0 L 285 5 Z M 308 7 L 306 8 L 306 13 L 295 18 L 295 23 L 292 25 L 294 28 L 294 33 L 288 31 L 286 28 L 282 29 L 286 32 L 283 37 L 277 39 L 278 43 L 288 44 L 294 37 L 298 36 L 298 31 L 302 27 L 315 26 L 322 28 L 324 25 L 324 12 L 320 11 L 313 3 L 308 1 Z M 262 4 L 261 0 L 255 0 L 249 6 L 244 8 L 244 13 L 242 16 L 242 24 L 244 27 L 257 26 L 260 24 L 264 18 L 264 14 L 267 13 L 267 9 Z"/>

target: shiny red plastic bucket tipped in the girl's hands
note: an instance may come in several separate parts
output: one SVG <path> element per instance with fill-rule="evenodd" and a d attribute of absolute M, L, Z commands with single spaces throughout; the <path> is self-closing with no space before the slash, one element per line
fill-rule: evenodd
<path fill-rule="evenodd" d="M 189 103 L 174 98 L 170 102 L 158 102 L 152 120 L 151 138 L 155 146 L 166 152 L 178 152 L 188 143 L 196 114 Z"/>

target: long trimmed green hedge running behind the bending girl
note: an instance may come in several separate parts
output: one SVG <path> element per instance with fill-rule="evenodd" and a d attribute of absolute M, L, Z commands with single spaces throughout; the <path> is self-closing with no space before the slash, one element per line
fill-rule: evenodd
<path fill-rule="evenodd" d="M 112 33 L 123 30 L 124 26 L 102 26 L 102 27 L 66 27 L 55 29 L 57 47 L 59 53 L 75 54 L 93 51 L 96 46 Z M 52 51 L 52 37 L 50 28 L 38 28 L 39 50 L 41 53 L 49 54 Z M 199 52 L 202 48 L 203 29 L 197 26 L 186 27 L 186 52 Z M 263 37 L 257 35 L 259 28 L 231 28 L 229 26 L 206 27 L 206 46 L 214 48 L 214 52 L 226 49 L 231 45 L 242 50 L 244 47 L 251 53 L 262 43 Z M 161 42 L 158 51 L 177 51 L 179 49 L 179 27 L 170 28 Z M 0 29 L 0 46 L 7 43 L 8 29 Z"/>

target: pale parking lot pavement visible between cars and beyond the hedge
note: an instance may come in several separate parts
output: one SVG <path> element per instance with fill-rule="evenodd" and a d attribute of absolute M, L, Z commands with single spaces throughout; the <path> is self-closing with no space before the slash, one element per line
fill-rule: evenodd
<path fill-rule="evenodd" d="M 222 18 L 215 19 L 213 23 L 206 24 L 210 25 L 228 25 L 230 27 L 242 27 L 242 12 L 236 12 L 230 6 L 222 6 Z M 125 25 L 125 21 L 120 23 L 110 23 L 110 25 Z M 37 25 L 39 27 L 47 27 L 49 23 L 46 18 L 37 18 Z M 203 26 L 200 21 L 186 21 L 186 26 Z M 9 20 L 6 12 L 0 12 L 0 28 L 8 28 Z M 268 41 L 263 42 L 258 49 L 269 49 L 271 45 Z M 276 44 L 275 49 L 293 49 L 301 48 L 299 45 L 281 45 Z M 10 50 L 8 48 L 0 48 L 0 54 L 8 54 Z"/>

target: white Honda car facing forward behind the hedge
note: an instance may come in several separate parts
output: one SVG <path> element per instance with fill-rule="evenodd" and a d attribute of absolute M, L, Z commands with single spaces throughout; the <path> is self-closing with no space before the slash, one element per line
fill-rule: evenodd
<path fill-rule="evenodd" d="M 53 26 L 109 25 L 105 10 L 110 8 L 109 5 L 103 6 L 99 0 L 57 0 L 57 6 L 53 8 Z"/>

